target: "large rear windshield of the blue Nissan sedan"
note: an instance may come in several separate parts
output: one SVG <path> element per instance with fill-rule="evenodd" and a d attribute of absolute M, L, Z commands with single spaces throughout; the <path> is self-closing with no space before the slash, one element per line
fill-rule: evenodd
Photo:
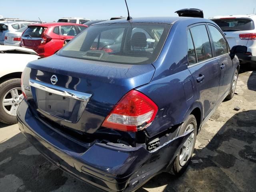
<path fill-rule="evenodd" d="M 58 55 L 120 64 L 152 63 L 162 50 L 170 27 L 159 23 L 90 26 Z"/>

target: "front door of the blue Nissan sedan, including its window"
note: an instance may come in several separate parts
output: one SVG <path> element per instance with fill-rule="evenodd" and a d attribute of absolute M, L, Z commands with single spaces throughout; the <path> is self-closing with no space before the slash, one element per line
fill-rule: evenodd
<path fill-rule="evenodd" d="M 223 97 L 230 91 L 231 81 L 233 79 L 233 62 L 228 54 L 228 43 L 216 26 L 208 24 L 208 29 L 212 39 L 214 55 L 220 66 L 220 88 L 218 93 L 218 102 L 222 102 Z M 217 103 L 218 103 L 217 102 Z"/>

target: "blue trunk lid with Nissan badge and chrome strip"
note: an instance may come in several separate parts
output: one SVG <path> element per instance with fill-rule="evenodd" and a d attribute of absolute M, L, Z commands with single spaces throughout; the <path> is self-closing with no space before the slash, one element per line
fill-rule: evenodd
<path fill-rule="evenodd" d="M 30 94 L 28 101 L 39 116 L 90 134 L 100 128 L 128 91 L 149 83 L 155 71 L 152 64 L 113 64 L 57 55 L 30 62 L 27 67 L 24 84 L 30 84 L 31 92 L 26 94 Z M 33 85 L 35 82 L 40 86 Z M 86 96 L 89 100 L 78 99 Z"/>

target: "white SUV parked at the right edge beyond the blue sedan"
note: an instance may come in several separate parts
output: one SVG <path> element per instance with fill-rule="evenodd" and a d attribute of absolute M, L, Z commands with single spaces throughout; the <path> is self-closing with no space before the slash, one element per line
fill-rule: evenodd
<path fill-rule="evenodd" d="M 230 48 L 235 45 L 247 47 L 246 54 L 237 54 L 240 64 L 256 66 L 256 14 L 215 16 L 209 19 L 220 26 Z"/>

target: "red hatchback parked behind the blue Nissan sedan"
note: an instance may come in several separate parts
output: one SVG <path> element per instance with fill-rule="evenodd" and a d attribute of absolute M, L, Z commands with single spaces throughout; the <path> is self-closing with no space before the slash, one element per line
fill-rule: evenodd
<path fill-rule="evenodd" d="M 40 57 L 60 50 L 65 39 L 74 38 L 87 26 L 74 23 L 42 23 L 29 25 L 22 34 L 21 47 L 33 49 Z"/>

